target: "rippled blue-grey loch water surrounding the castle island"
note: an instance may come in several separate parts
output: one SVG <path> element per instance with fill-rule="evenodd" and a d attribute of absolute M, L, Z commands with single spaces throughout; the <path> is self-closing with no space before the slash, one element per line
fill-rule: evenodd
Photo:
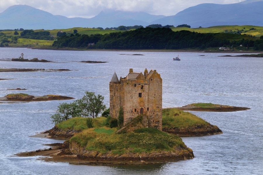
<path fill-rule="evenodd" d="M 70 69 L 64 72 L 6 72 L 0 78 L 0 97 L 10 93 L 65 95 L 81 98 L 85 91 L 105 97 L 109 106 L 109 81 L 116 71 L 125 77 L 156 69 L 163 80 L 163 108 L 194 102 L 249 107 L 238 112 L 194 112 L 224 133 L 183 137 L 195 158 L 158 164 L 69 164 L 46 162 L 41 157 L 14 154 L 49 148 L 63 142 L 29 137 L 53 127 L 50 116 L 66 101 L 0 103 L 0 174 L 263 174 L 263 58 L 218 57 L 236 53 L 177 53 L 132 51 L 59 51 L 0 48 L 0 59 L 38 57 L 53 62 L 0 61 L 0 68 Z M 127 54 L 127 55 L 121 55 Z M 142 54 L 142 55 L 132 55 Z M 173 61 L 177 56 L 181 61 Z M 205 55 L 205 56 L 199 56 Z M 72 61 L 107 61 L 86 64 Z M 25 91 L 7 89 L 25 88 Z"/>

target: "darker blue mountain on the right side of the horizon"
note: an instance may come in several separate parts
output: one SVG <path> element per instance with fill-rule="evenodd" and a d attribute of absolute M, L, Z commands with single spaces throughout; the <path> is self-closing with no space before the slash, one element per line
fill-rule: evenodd
<path fill-rule="evenodd" d="M 152 23 L 174 26 L 188 24 L 192 28 L 218 25 L 263 26 L 262 9 L 262 0 L 247 0 L 234 4 L 203 3 Z"/>

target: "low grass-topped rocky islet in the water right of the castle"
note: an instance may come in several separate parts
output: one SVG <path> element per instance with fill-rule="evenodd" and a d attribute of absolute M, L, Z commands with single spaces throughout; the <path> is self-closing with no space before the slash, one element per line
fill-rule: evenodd
<path fill-rule="evenodd" d="M 192 103 L 183 107 L 177 107 L 177 109 L 183 111 L 234 112 L 234 111 L 246 111 L 249 110 L 250 108 L 212 104 L 212 103 Z"/>

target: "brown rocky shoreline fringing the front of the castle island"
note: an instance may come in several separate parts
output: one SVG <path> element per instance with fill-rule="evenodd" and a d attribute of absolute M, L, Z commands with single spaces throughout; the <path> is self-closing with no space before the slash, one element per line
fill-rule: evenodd
<path fill-rule="evenodd" d="M 102 154 L 98 151 L 89 151 L 76 143 L 47 144 L 52 148 L 18 153 L 17 156 L 48 156 L 42 159 L 46 161 L 58 161 L 69 163 L 159 163 L 193 159 L 193 151 L 190 148 L 175 148 L 174 151 L 153 151 L 151 153 L 132 153 L 116 155 L 112 151 Z"/>

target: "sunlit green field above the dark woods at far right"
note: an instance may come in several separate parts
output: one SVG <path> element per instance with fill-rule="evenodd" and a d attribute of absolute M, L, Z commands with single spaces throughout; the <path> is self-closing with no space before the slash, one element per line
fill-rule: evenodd
<path fill-rule="evenodd" d="M 230 31 L 240 31 L 240 30 L 249 30 L 251 28 L 254 28 L 256 30 L 250 30 L 243 34 L 246 35 L 252 35 L 256 37 L 260 37 L 263 35 L 263 27 L 260 26 L 251 26 L 251 25 L 243 25 L 243 26 L 212 26 L 212 27 L 206 27 L 206 28 L 187 28 L 187 27 L 172 27 L 171 29 L 173 31 L 181 31 L 181 30 L 188 30 L 188 31 L 194 31 L 198 33 L 225 33 Z"/>

